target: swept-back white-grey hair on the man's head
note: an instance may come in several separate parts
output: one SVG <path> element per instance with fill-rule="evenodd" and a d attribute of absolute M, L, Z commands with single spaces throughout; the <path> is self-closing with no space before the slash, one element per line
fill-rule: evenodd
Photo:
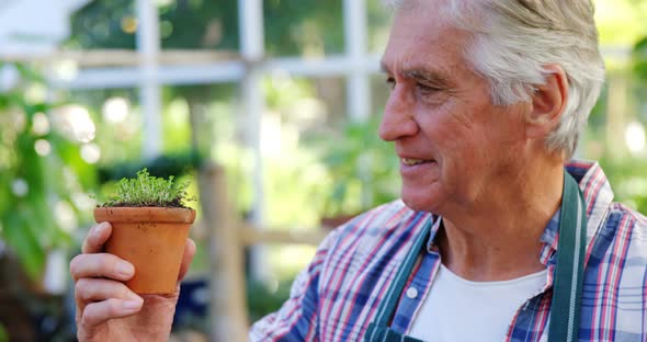
<path fill-rule="evenodd" d="M 412 1 L 385 0 L 399 8 Z M 604 62 L 590 0 L 445 0 L 439 11 L 472 34 L 464 56 L 491 87 L 495 105 L 530 101 L 533 84 L 545 84 L 545 67 L 561 66 L 568 100 L 548 136 L 550 151 L 575 153 L 604 83 Z"/>

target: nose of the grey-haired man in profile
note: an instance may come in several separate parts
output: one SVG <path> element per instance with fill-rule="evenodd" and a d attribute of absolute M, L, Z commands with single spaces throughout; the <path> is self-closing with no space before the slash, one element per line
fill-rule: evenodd
<path fill-rule="evenodd" d="M 415 104 L 408 96 L 406 88 L 396 84 L 384 109 L 379 124 L 379 137 L 385 141 L 395 141 L 418 133 L 413 111 Z"/>

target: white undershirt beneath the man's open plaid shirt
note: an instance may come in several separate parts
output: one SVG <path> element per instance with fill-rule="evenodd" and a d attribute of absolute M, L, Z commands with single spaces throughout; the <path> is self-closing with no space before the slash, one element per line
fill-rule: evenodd
<path fill-rule="evenodd" d="M 519 308 L 546 284 L 546 272 L 470 282 L 441 265 L 407 335 L 429 342 L 503 341 Z"/>

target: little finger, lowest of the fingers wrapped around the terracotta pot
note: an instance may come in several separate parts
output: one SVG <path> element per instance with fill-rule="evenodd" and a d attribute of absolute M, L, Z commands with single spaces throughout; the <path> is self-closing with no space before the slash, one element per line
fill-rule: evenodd
<path fill-rule="evenodd" d="M 141 310 L 143 303 L 111 298 L 88 304 L 81 316 L 81 326 L 90 330 L 110 319 L 132 316 Z"/>

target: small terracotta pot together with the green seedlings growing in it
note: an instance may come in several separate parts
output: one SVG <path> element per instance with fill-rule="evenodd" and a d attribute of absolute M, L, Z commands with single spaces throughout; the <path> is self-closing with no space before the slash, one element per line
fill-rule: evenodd
<path fill-rule="evenodd" d="M 97 223 L 109 221 L 105 251 L 135 266 L 126 286 L 140 295 L 171 294 L 195 210 L 184 205 L 189 184 L 151 176 L 146 169 L 122 179 L 116 195 L 94 209 Z"/>

